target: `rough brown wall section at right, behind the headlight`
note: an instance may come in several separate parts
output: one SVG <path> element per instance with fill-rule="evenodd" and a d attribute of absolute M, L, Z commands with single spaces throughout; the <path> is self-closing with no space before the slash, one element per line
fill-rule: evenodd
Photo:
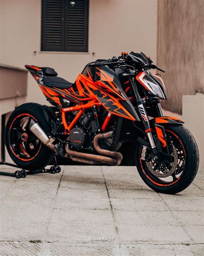
<path fill-rule="evenodd" d="M 165 109 L 182 113 L 182 95 L 204 93 L 204 1 L 158 0 L 157 64 L 168 100 Z"/>

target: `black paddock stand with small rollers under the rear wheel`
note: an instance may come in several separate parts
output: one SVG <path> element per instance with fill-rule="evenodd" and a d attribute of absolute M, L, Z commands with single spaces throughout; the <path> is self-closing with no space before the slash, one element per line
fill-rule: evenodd
<path fill-rule="evenodd" d="M 27 175 L 37 174 L 37 173 L 60 173 L 61 167 L 59 165 L 57 165 L 56 157 L 54 157 L 54 159 L 53 159 L 53 164 L 54 165 L 51 166 L 49 169 L 43 168 L 43 169 L 35 170 L 35 171 L 29 171 L 29 170 L 22 169 L 22 170 L 15 171 L 15 173 L 0 172 L 0 175 L 15 177 L 15 178 L 19 179 L 19 178 L 25 178 Z M 0 162 L 0 165 L 8 165 L 8 166 L 12 166 L 12 167 L 16 167 L 16 168 L 20 169 L 19 166 L 17 166 L 16 164 L 12 164 L 12 163 Z"/>

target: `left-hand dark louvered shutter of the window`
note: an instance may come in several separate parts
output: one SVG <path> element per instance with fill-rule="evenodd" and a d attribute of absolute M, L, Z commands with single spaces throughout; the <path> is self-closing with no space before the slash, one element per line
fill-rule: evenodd
<path fill-rule="evenodd" d="M 42 51 L 63 51 L 63 0 L 42 1 Z"/>

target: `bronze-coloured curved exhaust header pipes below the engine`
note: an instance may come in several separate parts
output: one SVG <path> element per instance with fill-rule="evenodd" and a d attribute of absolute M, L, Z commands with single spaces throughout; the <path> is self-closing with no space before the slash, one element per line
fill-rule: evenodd
<path fill-rule="evenodd" d="M 99 139 L 110 138 L 113 134 L 114 134 L 114 131 L 108 131 L 103 134 L 97 134 L 94 137 L 93 145 L 96 151 L 100 155 L 81 153 L 75 150 L 71 150 L 68 144 L 65 145 L 66 153 L 70 156 L 72 160 L 78 161 L 78 162 L 91 163 L 91 164 L 108 163 L 111 165 L 119 165 L 121 163 L 121 160 L 123 159 L 123 156 L 121 153 L 105 150 L 99 147 Z"/>

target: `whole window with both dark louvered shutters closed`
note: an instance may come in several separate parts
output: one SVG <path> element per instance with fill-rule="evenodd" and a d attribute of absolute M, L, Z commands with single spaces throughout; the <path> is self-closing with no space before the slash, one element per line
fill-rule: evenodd
<path fill-rule="evenodd" d="M 89 0 L 42 0 L 41 51 L 88 51 Z"/>

